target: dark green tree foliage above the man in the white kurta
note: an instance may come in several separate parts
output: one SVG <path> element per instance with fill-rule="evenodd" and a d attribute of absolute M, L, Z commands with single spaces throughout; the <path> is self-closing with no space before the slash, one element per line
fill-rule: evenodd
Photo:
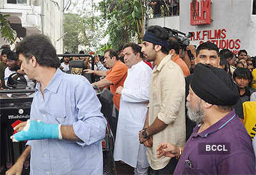
<path fill-rule="evenodd" d="M 133 36 L 140 38 L 144 18 L 142 0 L 105 0 L 100 2 L 99 10 L 104 22 L 108 24 L 106 34 L 109 35 L 109 44 L 114 49 L 131 42 Z"/>

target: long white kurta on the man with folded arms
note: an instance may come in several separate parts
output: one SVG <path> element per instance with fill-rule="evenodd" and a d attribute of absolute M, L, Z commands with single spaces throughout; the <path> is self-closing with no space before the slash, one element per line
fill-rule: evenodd
<path fill-rule="evenodd" d="M 138 134 L 144 126 L 147 115 L 151 72 L 152 69 L 140 61 L 128 69 L 122 90 L 114 158 L 115 161 L 122 160 L 132 167 L 136 167 L 138 161 L 140 146 Z M 147 149 L 145 146 L 143 148 L 140 162 L 143 162 L 143 167 L 148 167 Z"/>

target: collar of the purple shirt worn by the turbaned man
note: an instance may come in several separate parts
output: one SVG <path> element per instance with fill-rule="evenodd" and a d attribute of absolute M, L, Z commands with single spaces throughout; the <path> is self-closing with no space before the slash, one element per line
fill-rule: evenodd
<path fill-rule="evenodd" d="M 200 126 L 197 125 L 193 130 L 192 137 L 207 137 L 211 135 L 211 133 L 214 133 L 220 130 L 222 127 L 225 127 L 225 125 L 228 124 L 228 122 L 230 121 L 230 119 L 232 119 L 234 115 L 236 115 L 236 113 L 235 110 L 233 109 L 224 118 L 220 119 L 220 121 L 214 123 L 212 126 L 210 126 L 209 128 L 200 133 L 197 133 L 200 128 Z"/>

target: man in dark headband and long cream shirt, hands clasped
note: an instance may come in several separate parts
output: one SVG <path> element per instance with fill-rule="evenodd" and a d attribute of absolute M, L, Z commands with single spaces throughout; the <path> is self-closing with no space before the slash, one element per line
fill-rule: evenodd
<path fill-rule="evenodd" d="M 168 33 L 150 26 L 143 36 L 141 51 L 156 65 L 152 71 L 147 119 L 140 131 L 140 143 L 147 147 L 147 158 L 154 174 L 172 174 L 177 160 L 157 158 L 161 142 L 185 144 L 185 79 L 179 65 L 169 55 Z"/>

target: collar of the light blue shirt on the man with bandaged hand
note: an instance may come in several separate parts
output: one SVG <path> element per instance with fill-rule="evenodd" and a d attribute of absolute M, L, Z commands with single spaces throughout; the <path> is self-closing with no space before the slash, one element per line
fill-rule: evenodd
<path fill-rule="evenodd" d="M 62 81 L 62 77 L 63 77 L 63 72 L 58 68 L 56 73 L 52 77 L 51 82 L 46 86 L 45 89 L 51 91 L 52 93 L 56 93 Z M 41 84 L 40 82 L 37 82 L 36 91 L 40 91 L 40 88 L 41 88 Z"/>

